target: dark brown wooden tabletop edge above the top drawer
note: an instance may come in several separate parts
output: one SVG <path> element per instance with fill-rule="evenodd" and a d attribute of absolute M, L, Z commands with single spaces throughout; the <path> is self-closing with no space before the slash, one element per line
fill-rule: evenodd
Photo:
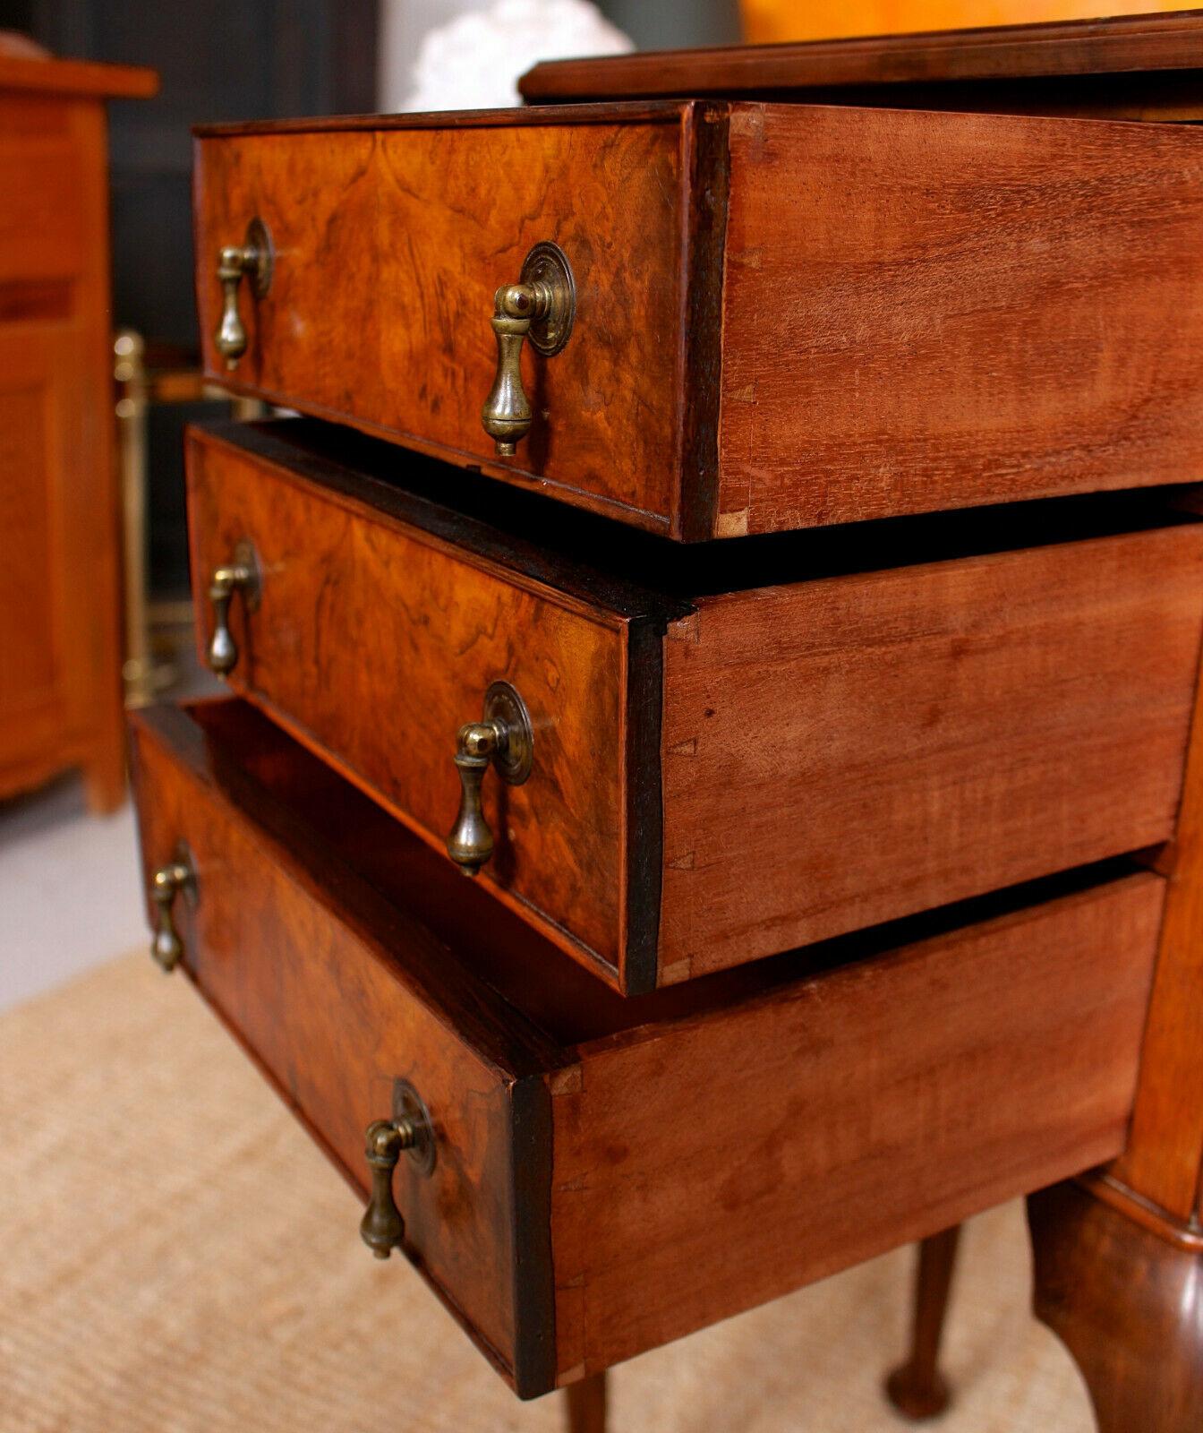
<path fill-rule="evenodd" d="M 1203 70 L 1203 10 L 547 60 L 518 89 L 547 103 L 1173 70 Z"/>

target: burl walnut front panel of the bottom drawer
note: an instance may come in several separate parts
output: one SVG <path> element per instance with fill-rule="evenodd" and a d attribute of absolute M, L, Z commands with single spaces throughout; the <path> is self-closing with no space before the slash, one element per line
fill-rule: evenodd
<path fill-rule="evenodd" d="M 198 900 L 176 916 L 200 993 L 361 1192 L 364 1129 L 391 1115 L 394 1079 L 412 1082 L 438 1148 L 430 1176 L 407 1159 L 394 1176 L 405 1254 L 520 1391 L 546 1384 L 518 1367 L 514 1262 L 514 1103 L 546 1042 L 304 827 L 256 820 L 271 802 L 188 716 L 155 711 L 132 732 L 145 877 L 178 841 L 192 851 Z"/>

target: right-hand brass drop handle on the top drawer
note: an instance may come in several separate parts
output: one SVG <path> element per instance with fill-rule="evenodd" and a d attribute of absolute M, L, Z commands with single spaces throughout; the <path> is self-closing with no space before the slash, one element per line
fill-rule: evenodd
<path fill-rule="evenodd" d="M 556 244 L 536 244 L 517 284 L 503 284 L 493 298 L 497 373 L 484 400 L 481 423 L 498 457 L 513 457 L 530 431 L 530 401 L 523 388 L 523 341 L 544 357 L 560 353 L 573 331 L 576 284 L 569 259 Z"/>

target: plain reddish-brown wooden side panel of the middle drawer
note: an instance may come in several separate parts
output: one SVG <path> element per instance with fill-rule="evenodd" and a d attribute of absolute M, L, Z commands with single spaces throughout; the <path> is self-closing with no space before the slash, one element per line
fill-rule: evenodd
<path fill-rule="evenodd" d="M 662 980 L 1169 840 L 1200 562 L 1189 526 L 699 599 Z"/>

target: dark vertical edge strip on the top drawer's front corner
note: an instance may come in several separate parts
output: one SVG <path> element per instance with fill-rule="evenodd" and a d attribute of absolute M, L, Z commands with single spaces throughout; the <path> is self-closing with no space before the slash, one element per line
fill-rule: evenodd
<path fill-rule="evenodd" d="M 726 105 L 696 105 L 689 172 L 685 281 L 685 388 L 677 502 L 680 539 L 715 536 L 719 513 L 719 394 L 723 364 L 723 257 L 730 186 Z"/>

